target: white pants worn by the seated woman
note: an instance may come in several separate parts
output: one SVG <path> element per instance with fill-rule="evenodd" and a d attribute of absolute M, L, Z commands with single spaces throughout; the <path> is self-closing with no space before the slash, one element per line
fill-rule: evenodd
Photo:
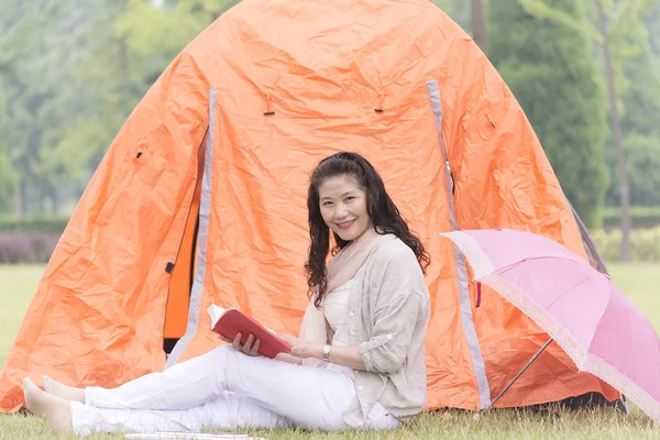
<path fill-rule="evenodd" d="M 114 389 L 88 387 L 72 404 L 74 431 L 199 431 L 234 427 L 346 429 L 355 385 L 339 369 L 248 356 L 222 345 Z M 364 428 L 394 429 L 396 417 L 376 404 Z"/>

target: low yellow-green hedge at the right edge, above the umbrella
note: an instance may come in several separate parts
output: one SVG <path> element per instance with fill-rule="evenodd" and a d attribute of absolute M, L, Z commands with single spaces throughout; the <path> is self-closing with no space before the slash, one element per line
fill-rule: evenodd
<path fill-rule="evenodd" d="M 620 230 L 615 229 L 609 232 L 597 230 L 591 235 L 605 261 L 620 261 Z M 635 262 L 660 262 L 660 227 L 632 230 L 630 233 L 630 256 Z"/>

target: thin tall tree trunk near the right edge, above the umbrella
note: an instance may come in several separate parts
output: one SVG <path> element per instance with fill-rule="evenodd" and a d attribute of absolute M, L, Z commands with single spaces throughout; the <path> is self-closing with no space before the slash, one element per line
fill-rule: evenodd
<path fill-rule="evenodd" d="M 628 187 L 628 173 L 626 170 L 626 152 L 622 135 L 622 120 L 617 106 L 616 82 L 614 80 L 614 68 L 612 66 L 612 54 L 609 53 L 609 40 L 607 36 L 607 19 L 603 6 L 596 1 L 598 8 L 600 32 L 603 36 L 603 57 L 605 61 L 605 75 L 607 77 L 607 92 L 609 95 L 609 113 L 612 116 L 612 129 L 614 132 L 614 144 L 616 146 L 616 158 L 619 173 L 619 190 L 622 205 L 622 260 L 630 261 L 630 191 Z"/>

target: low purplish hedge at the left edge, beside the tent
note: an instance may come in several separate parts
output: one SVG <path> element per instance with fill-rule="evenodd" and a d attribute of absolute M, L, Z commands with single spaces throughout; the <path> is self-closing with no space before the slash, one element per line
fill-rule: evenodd
<path fill-rule="evenodd" d="M 0 232 L 0 264 L 47 263 L 58 241 L 44 232 Z"/>

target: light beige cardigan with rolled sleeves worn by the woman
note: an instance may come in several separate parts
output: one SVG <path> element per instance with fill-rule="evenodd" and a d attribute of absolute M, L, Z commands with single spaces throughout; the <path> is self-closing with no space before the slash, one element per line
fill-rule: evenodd
<path fill-rule="evenodd" d="M 429 302 L 419 263 L 403 241 L 383 243 L 365 260 L 353 278 L 346 326 L 349 345 L 360 345 L 366 371 L 354 371 L 356 398 L 343 415 L 348 426 L 362 427 L 377 402 L 403 420 L 424 409 Z M 327 327 L 326 343 L 332 336 Z"/>

